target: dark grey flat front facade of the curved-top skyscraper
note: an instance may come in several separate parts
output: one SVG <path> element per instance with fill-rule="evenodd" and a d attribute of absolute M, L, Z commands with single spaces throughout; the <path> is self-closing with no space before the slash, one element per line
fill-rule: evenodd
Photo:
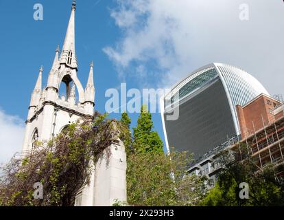
<path fill-rule="evenodd" d="M 215 97 L 213 97 L 215 96 Z M 165 120 L 169 146 L 202 157 L 235 135 L 235 126 L 221 80 L 179 104 L 178 120 Z"/>

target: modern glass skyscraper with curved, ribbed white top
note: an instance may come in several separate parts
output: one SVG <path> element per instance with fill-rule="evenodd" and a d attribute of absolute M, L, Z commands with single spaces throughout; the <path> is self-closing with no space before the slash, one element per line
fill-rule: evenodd
<path fill-rule="evenodd" d="M 167 148 L 195 153 L 196 159 L 240 135 L 236 106 L 268 91 L 242 69 L 212 63 L 189 74 L 161 100 Z M 177 120 L 167 120 L 178 111 Z"/>

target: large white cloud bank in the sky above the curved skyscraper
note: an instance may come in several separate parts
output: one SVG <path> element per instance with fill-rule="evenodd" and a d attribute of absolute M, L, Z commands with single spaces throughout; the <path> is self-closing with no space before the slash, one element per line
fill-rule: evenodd
<path fill-rule="evenodd" d="M 242 3 L 249 21 L 239 19 Z M 228 63 L 283 93 L 283 1 L 117 0 L 110 15 L 121 39 L 104 52 L 120 77 L 141 80 L 143 67 L 143 83 L 167 87 L 202 65 Z"/>

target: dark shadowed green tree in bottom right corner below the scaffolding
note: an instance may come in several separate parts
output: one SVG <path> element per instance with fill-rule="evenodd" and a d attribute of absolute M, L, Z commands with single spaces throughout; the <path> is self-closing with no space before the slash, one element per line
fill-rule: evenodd
<path fill-rule="evenodd" d="M 283 168 L 271 165 L 261 171 L 252 157 L 244 153 L 242 155 L 235 153 L 235 159 L 227 161 L 218 176 L 217 184 L 209 190 L 200 205 L 284 206 L 284 185 L 275 178 L 275 173 Z M 248 184 L 248 199 L 239 197 L 241 183 Z"/>

